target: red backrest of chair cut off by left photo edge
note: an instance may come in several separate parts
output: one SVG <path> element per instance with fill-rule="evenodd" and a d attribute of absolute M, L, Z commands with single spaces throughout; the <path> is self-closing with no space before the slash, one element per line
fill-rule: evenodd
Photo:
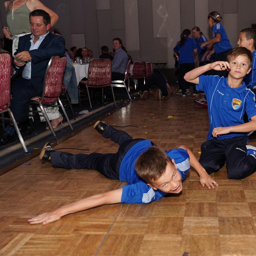
<path fill-rule="evenodd" d="M 10 103 L 11 64 L 11 54 L 0 51 L 0 107 Z"/>

